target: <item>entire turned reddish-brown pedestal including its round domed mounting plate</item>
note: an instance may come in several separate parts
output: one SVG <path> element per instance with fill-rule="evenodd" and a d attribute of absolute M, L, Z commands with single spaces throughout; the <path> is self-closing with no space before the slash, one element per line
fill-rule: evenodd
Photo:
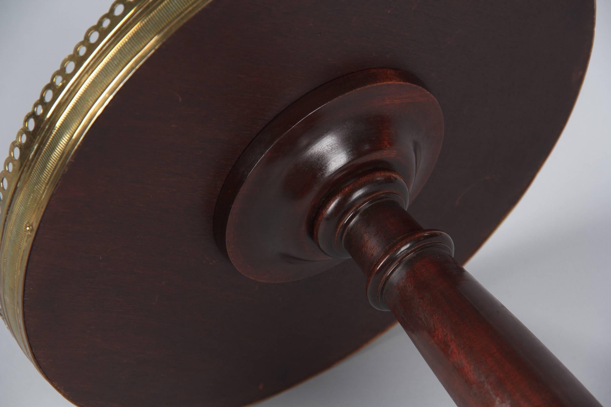
<path fill-rule="evenodd" d="M 280 113 L 225 180 L 214 227 L 244 275 L 280 283 L 352 258 L 459 406 L 600 404 L 406 211 L 436 162 L 436 99 L 401 71 L 335 79 Z"/>

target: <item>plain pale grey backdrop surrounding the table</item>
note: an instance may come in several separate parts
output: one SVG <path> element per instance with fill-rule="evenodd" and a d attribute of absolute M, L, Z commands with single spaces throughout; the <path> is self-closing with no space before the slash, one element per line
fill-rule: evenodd
<path fill-rule="evenodd" d="M 0 0 L 0 145 L 109 0 Z M 467 270 L 611 406 L 611 2 L 584 86 L 529 191 Z M 2 153 L 4 154 L 4 153 Z M 112 389 L 108 389 L 112 391 Z M 202 400 L 205 405 L 205 400 Z M 258 407 L 454 406 L 401 328 Z M 0 406 L 71 406 L 0 326 Z"/>

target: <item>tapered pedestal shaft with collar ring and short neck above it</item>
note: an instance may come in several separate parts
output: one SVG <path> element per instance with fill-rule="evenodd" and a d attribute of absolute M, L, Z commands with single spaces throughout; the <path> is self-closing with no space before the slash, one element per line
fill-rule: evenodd
<path fill-rule="evenodd" d="M 423 231 L 396 200 L 354 214 L 348 252 L 460 407 L 601 407 L 496 298 L 453 259 L 453 243 Z"/>

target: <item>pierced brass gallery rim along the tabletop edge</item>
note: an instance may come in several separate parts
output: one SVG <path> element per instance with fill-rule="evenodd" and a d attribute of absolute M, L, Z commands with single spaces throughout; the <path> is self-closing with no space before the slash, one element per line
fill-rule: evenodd
<path fill-rule="evenodd" d="M 0 172 L 0 317 L 38 371 L 23 320 L 27 260 L 65 165 L 104 106 L 211 0 L 118 0 L 43 87 Z"/>

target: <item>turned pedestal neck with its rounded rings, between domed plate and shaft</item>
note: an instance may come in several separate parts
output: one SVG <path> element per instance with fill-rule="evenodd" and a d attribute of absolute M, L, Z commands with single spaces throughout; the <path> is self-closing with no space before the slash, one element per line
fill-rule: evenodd
<path fill-rule="evenodd" d="M 397 173 L 373 170 L 335 190 L 314 221 L 318 247 L 332 258 L 353 258 L 368 275 L 369 302 L 382 311 L 389 311 L 386 283 L 404 261 L 433 247 L 454 254 L 450 236 L 423 230 L 405 211 L 408 202 L 408 187 Z M 386 225 L 388 218 L 396 222 Z"/>

